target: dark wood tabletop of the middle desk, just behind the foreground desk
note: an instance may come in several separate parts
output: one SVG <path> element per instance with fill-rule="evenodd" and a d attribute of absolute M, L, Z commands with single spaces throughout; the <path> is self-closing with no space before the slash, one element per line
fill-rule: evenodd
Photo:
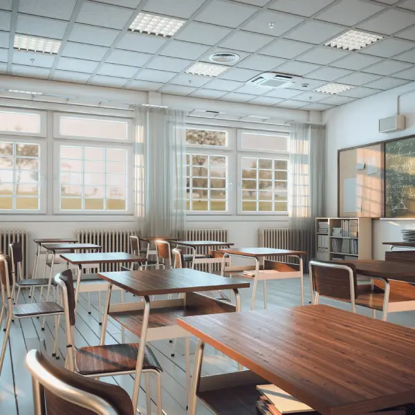
<path fill-rule="evenodd" d="M 99 277 L 138 296 L 249 288 L 246 278 L 227 278 L 190 268 L 99 273 Z"/>

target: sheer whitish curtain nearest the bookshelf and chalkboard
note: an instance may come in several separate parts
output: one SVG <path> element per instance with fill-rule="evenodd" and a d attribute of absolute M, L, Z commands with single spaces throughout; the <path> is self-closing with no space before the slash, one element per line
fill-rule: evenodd
<path fill-rule="evenodd" d="M 290 128 L 290 227 L 314 230 L 325 209 L 325 126 L 291 122 Z"/>

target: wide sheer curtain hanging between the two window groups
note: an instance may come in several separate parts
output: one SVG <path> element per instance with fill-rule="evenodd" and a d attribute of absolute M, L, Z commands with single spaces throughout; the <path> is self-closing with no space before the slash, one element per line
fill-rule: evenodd
<path fill-rule="evenodd" d="M 134 181 L 142 235 L 176 237 L 185 226 L 185 113 L 138 107 Z"/>

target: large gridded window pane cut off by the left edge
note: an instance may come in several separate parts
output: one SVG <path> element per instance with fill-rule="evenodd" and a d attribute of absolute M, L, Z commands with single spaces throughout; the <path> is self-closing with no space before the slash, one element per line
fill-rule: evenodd
<path fill-rule="evenodd" d="M 0 142 L 0 210 L 39 213 L 41 145 Z"/>

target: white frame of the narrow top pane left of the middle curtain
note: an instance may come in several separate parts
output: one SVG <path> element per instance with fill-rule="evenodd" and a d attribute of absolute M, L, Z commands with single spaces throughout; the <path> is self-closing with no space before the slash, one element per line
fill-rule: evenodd
<path fill-rule="evenodd" d="M 84 120 L 102 120 L 102 121 L 122 121 L 127 123 L 127 138 L 125 139 L 115 139 L 115 138 L 99 138 L 99 137 L 84 137 L 84 136 L 66 136 L 60 133 L 60 118 L 80 118 Z M 122 142 L 133 142 L 134 137 L 134 126 L 133 120 L 131 118 L 122 118 L 122 117 L 110 117 L 110 116 L 100 116 L 95 114 L 80 114 L 80 113 L 53 113 L 53 137 L 54 138 L 65 138 L 68 140 L 82 140 L 82 141 L 99 141 L 99 142 L 113 142 L 114 144 Z"/>

